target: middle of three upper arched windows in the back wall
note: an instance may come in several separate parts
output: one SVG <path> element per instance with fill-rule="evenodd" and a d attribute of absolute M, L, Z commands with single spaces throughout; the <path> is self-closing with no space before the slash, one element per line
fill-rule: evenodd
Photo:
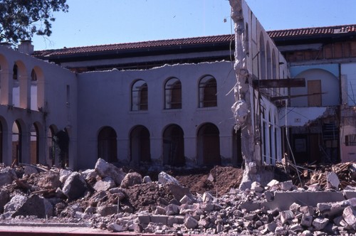
<path fill-rule="evenodd" d="M 177 78 L 171 78 L 164 86 L 164 109 L 182 108 L 182 84 Z"/>

